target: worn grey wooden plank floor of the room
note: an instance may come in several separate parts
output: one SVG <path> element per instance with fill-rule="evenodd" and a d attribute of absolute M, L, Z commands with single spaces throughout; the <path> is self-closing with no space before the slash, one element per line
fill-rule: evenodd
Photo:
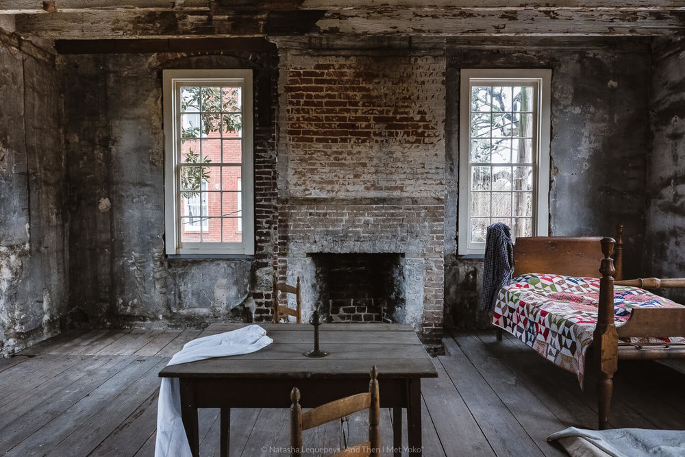
<path fill-rule="evenodd" d="M 157 374 L 200 332 L 74 330 L 0 359 L 0 455 L 153 456 Z M 581 391 L 575 375 L 514 338 L 456 332 L 444 343 L 447 355 L 433 359 L 439 378 L 423 381 L 425 456 L 563 456 L 547 435 L 595 427 L 591 370 Z M 681 361 L 621 362 L 612 425 L 685 429 L 684 384 Z M 381 421 L 390 446 L 390 410 Z M 219 410 L 201 410 L 199 423 L 201 455 L 217 455 Z M 278 455 L 269 449 L 288 445 L 288 410 L 234 410 L 231 428 L 232 455 Z M 365 440 L 365 415 L 311 430 L 305 446 L 336 449 L 343 434 Z"/>

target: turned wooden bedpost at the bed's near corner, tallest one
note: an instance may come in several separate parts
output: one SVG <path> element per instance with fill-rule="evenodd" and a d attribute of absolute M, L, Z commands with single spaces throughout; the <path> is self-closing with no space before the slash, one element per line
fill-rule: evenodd
<path fill-rule="evenodd" d="M 597 379 L 597 402 L 599 430 L 608 428 L 609 408 L 613 391 L 614 372 L 619 362 L 619 337 L 614 324 L 614 260 L 611 258 L 614 249 L 613 238 L 602 238 L 601 280 L 599 280 L 599 309 L 597 327 L 593 338 L 593 350 L 599 368 Z"/>

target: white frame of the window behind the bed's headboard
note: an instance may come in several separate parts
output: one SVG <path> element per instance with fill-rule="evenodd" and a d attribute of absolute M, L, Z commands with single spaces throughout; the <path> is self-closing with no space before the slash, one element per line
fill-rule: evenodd
<path fill-rule="evenodd" d="M 459 245 L 460 256 L 482 257 L 484 242 L 471 241 L 471 87 L 498 84 L 533 84 L 536 86 L 534 125 L 534 164 L 532 235 L 549 234 L 549 141 L 550 141 L 550 84 L 549 69 L 462 69 L 460 71 L 460 138 L 459 138 Z"/>

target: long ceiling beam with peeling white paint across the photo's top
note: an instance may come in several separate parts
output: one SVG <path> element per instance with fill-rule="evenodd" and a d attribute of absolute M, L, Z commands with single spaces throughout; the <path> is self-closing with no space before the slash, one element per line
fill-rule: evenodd
<path fill-rule="evenodd" d="M 673 36 L 685 9 L 653 8 L 373 8 L 241 10 L 93 10 L 16 14 L 17 34 L 48 39 L 199 36 Z"/>

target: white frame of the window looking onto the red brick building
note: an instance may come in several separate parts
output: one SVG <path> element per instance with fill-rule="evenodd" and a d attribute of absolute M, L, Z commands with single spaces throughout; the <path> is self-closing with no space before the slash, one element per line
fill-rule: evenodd
<path fill-rule="evenodd" d="M 233 86 L 241 90 L 242 112 L 242 241 L 240 243 L 182 243 L 181 193 L 179 191 L 181 151 L 181 86 Z M 164 206 L 167 255 L 253 255 L 254 254 L 254 165 L 251 70 L 164 70 Z"/>

